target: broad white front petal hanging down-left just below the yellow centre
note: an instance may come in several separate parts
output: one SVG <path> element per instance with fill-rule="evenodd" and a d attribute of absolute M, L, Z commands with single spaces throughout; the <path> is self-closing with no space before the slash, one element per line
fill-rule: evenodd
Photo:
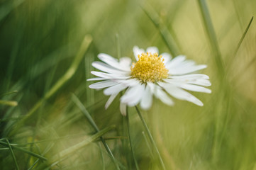
<path fill-rule="evenodd" d="M 127 103 L 128 106 L 137 105 L 143 96 L 144 86 L 138 85 L 130 87 L 121 97 L 121 103 Z"/>

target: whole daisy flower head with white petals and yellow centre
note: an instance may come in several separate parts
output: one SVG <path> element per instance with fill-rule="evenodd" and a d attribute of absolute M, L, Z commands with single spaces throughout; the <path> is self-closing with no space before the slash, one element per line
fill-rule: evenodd
<path fill-rule="evenodd" d="M 122 57 L 119 61 L 110 55 L 99 54 L 102 62 L 93 62 L 92 66 L 102 72 L 91 72 L 96 78 L 88 81 L 99 81 L 91 84 L 91 89 L 104 89 L 104 94 L 110 96 L 105 108 L 121 91 L 121 113 L 126 115 L 126 106 L 135 106 L 147 110 L 152 105 L 152 97 L 159 98 L 163 103 L 172 106 L 172 97 L 190 101 L 198 106 L 203 103 L 185 90 L 211 93 L 209 77 L 205 74 L 193 74 L 206 65 L 196 65 L 192 60 L 186 60 L 184 55 L 172 59 L 168 53 L 158 55 L 157 47 L 147 50 L 133 47 L 136 62 L 132 64 L 129 57 Z M 106 88 L 106 89 L 105 89 Z"/>

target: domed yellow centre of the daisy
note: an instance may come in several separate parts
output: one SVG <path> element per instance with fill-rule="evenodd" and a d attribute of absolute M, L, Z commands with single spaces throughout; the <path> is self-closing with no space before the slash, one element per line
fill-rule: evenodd
<path fill-rule="evenodd" d="M 165 68 L 162 55 L 151 52 L 142 53 L 138 55 L 138 62 L 133 63 L 130 67 L 131 76 L 139 79 L 142 83 L 148 81 L 155 83 L 168 77 L 168 69 Z"/>

